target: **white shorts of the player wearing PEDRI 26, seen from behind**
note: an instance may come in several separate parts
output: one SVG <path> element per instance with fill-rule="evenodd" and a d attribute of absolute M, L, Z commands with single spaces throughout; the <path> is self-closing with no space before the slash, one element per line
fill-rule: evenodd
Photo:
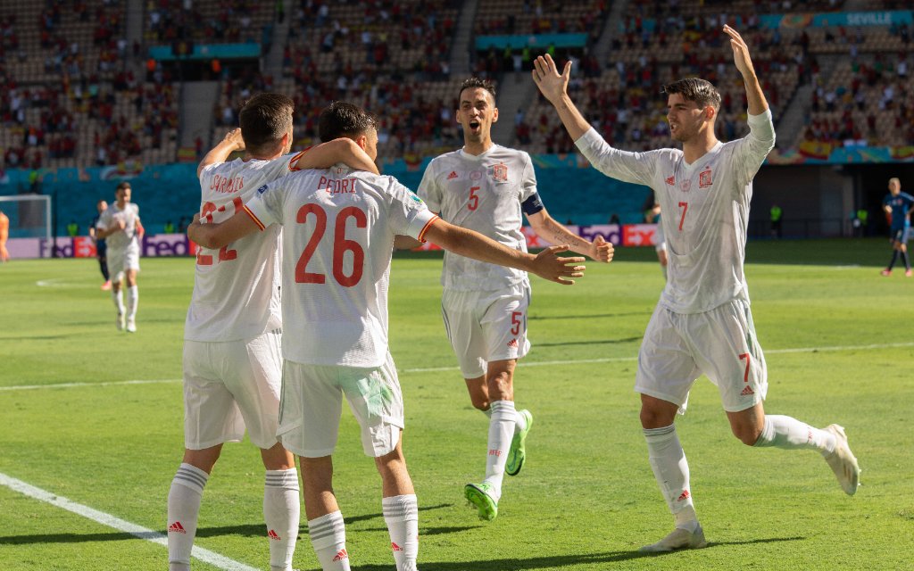
<path fill-rule="evenodd" d="M 403 394 L 389 353 L 374 368 L 286 361 L 277 433 L 282 446 L 304 458 L 333 454 L 344 395 L 362 429 L 366 455 L 378 458 L 392 452 L 403 428 Z"/>

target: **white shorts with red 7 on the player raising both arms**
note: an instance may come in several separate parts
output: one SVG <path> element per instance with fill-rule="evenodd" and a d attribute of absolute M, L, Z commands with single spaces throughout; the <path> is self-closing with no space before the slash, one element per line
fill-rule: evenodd
<path fill-rule="evenodd" d="M 634 390 L 674 403 L 685 414 L 689 390 L 702 374 L 717 386 L 728 412 L 765 399 L 768 369 L 746 301 L 688 314 L 657 305 L 638 353 Z"/>

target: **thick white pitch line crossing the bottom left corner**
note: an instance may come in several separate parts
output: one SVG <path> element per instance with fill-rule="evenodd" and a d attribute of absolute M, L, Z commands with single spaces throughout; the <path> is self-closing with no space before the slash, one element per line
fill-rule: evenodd
<path fill-rule="evenodd" d="M 134 535 L 140 539 L 145 539 L 146 541 L 151 541 L 154 544 L 168 546 L 168 538 L 165 535 L 155 532 L 151 529 L 147 529 L 142 525 L 137 525 L 136 523 L 130 523 L 124 521 L 120 518 L 114 517 L 111 513 L 99 512 L 98 510 L 93 510 L 92 508 L 82 505 L 81 503 L 72 502 L 63 496 L 55 495 L 51 492 L 46 492 L 41 488 L 36 488 L 31 484 L 27 484 L 25 481 L 16 480 L 16 478 L 11 478 L 4 473 L 0 473 L 0 484 L 6 486 L 14 492 L 19 492 L 24 495 L 27 495 L 29 498 L 33 498 L 40 502 L 50 503 L 51 505 L 67 510 L 68 512 L 76 513 L 81 515 L 84 518 L 90 519 L 93 522 L 101 523 L 102 525 L 107 525 L 118 531 Z M 209 551 L 202 547 L 194 546 L 191 555 L 197 557 L 200 561 L 208 563 L 211 566 L 216 566 L 219 569 L 225 569 L 226 571 L 258 571 L 256 567 L 246 566 L 239 561 L 234 559 L 229 559 L 225 555 L 219 555 L 218 553 Z"/>

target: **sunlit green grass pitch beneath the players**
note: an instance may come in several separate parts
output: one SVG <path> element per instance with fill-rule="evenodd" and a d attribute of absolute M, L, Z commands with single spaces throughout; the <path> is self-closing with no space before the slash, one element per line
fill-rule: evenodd
<path fill-rule="evenodd" d="M 748 248 L 769 366 L 766 410 L 845 426 L 863 468 L 860 491 L 841 492 L 812 451 L 740 444 L 703 377 L 677 426 L 709 546 L 662 556 L 636 552 L 672 528 L 632 392 L 634 358 L 663 286 L 653 249 L 619 249 L 609 266 L 590 262 L 574 287 L 532 279 L 533 350 L 515 375 L 515 399 L 536 422 L 524 471 L 505 477 L 493 523 L 480 522 L 462 498 L 463 484 L 484 474 L 487 422 L 470 406 L 444 336 L 441 260 L 398 256 L 390 343 L 419 494 L 420 569 L 912 568 L 914 279 L 880 277 L 888 255 L 883 239 Z M 0 473 L 164 532 L 183 450 L 178 379 L 192 271 L 191 259 L 143 259 L 139 332 L 129 335 L 114 329 L 94 260 L 0 267 Z M 163 382 L 123 384 L 130 380 Z M 226 446 L 207 484 L 197 545 L 266 568 L 262 473 L 250 443 Z M 353 568 L 393 569 L 380 481 L 348 412 L 335 488 Z M 163 546 L 5 486 L 0 525 L 0 569 L 167 567 Z M 318 568 L 306 528 L 295 566 Z"/>

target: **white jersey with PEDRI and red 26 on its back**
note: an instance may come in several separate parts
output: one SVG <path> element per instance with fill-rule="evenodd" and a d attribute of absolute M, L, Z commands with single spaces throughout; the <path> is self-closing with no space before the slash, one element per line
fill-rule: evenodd
<path fill-rule="evenodd" d="M 304 365 L 375 367 L 388 354 L 394 236 L 423 239 L 437 218 L 390 176 L 345 165 L 289 174 L 246 203 L 282 224 L 282 355 Z"/>

